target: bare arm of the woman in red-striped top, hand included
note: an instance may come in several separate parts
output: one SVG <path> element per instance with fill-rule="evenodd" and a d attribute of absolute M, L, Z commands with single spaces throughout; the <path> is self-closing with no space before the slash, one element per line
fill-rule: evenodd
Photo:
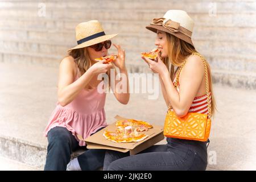
<path fill-rule="evenodd" d="M 150 59 L 146 60 L 150 64 L 150 68 L 159 73 L 159 76 L 163 81 L 164 88 L 166 89 L 168 101 L 172 105 L 176 115 L 178 117 L 183 117 L 188 113 L 189 107 L 191 106 L 193 99 L 200 88 L 201 82 L 203 81 L 204 65 L 200 60 L 200 57 L 191 56 L 187 60 L 180 73 L 179 92 L 174 88 L 168 69 L 164 65 L 163 61 L 160 60 L 160 57 L 158 58 L 157 63 Z"/>

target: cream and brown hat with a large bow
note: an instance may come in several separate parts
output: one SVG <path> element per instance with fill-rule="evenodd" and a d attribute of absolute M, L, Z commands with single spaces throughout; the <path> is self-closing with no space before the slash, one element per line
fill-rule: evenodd
<path fill-rule="evenodd" d="M 155 18 L 146 28 L 153 32 L 162 30 L 184 40 L 193 46 L 191 36 L 194 22 L 187 12 L 182 10 L 168 10 L 163 18 Z"/>

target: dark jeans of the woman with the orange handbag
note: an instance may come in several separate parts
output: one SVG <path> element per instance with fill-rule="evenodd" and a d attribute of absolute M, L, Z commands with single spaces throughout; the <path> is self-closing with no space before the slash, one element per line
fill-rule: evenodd
<path fill-rule="evenodd" d="M 167 138 L 167 144 L 155 145 L 137 155 L 106 151 L 104 170 L 174 171 L 205 170 L 207 142 Z"/>

